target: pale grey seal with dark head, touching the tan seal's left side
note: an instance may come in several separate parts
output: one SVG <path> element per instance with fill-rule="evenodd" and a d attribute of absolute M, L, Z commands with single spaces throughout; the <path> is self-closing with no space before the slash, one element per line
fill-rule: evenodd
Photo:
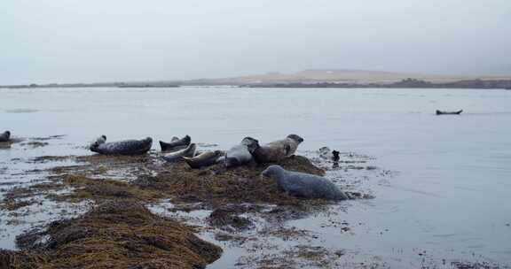
<path fill-rule="evenodd" d="M 259 146 L 259 142 L 252 137 L 245 137 L 240 144 L 235 145 L 231 150 L 227 150 L 223 158 L 219 158 L 218 162 L 224 162 L 226 167 L 246 165 L 250 163 L 254 157 L 252 154 Z"/>

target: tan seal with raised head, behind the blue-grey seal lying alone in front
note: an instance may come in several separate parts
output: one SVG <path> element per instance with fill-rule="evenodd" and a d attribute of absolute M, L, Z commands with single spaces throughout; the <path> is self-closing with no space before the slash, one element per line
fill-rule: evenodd
<path fill-rule="evenodd" d="M 259 164 L 278 162 L 295 154 L 303 138 L 298 135 L 287 135 L 286 139 L 270 142 L 263 146 L 257 144 L 254 150 L 255 161 Z"/>

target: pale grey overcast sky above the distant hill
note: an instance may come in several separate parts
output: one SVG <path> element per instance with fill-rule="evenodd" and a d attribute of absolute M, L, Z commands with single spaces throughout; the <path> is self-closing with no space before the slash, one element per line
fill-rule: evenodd
<path fill-rule="evenodd" d="M 511 74 L 511 0 L 1 0 L 0 84 Z"/>

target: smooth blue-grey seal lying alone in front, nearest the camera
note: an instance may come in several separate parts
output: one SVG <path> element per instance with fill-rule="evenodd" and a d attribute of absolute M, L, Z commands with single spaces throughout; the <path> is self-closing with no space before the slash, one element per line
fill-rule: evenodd
<path fill-rule="evenodd" d="M 348 199 L 332 181 L 314 174 L 287 171 L 280 165 L 270 165 L 261 174 L 276 180 L 279 188 L 292 196 L 335 201 Z"/>

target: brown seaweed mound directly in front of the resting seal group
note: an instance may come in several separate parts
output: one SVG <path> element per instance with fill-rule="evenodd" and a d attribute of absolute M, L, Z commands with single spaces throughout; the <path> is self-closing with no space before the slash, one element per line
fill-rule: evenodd
<path fill-rule="evenodd" d="M 279 165 L 303 173 L 325 173 L 301 156 L 286 158 Z M 244 165 L 225 169 L 223 165 L 214 165 L 197 170 L 190 169 L 185 163 L 177 163 L 154 177 L 139 178 L 132 183 L 143 189 L 158 189 L 185 202 L 299 204 L 295 197 L 283 193 L 275 181 L 260 175 L 267 166 Z"/>

